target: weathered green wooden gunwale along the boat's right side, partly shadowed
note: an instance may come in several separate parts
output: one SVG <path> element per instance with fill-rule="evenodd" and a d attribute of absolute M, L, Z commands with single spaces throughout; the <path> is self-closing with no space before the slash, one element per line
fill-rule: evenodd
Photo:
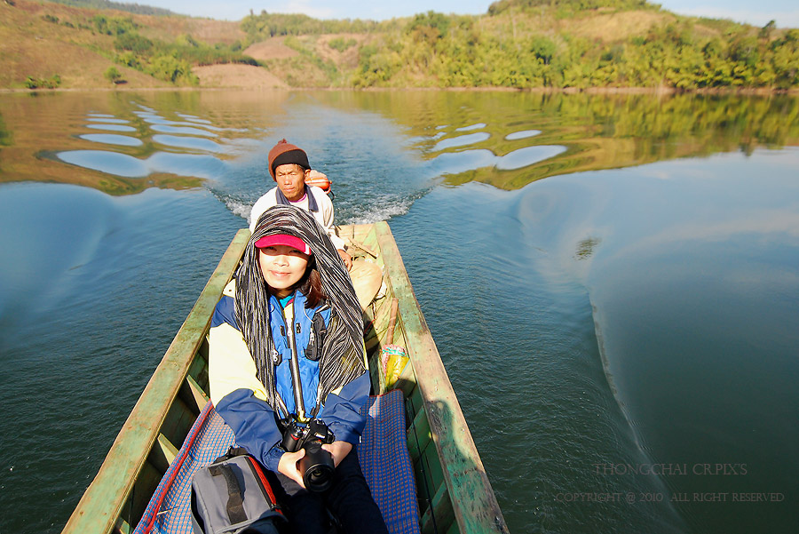
<path fill-rule="evenodd" d="M 385 272 L 391 280 L 394 296 L 399 299 L 399 313 L 406 331 L 406 348 L 414 363 L 417 384 L 422 388 L 424 410 L 444 468 L 455 520 L 464 534 L 508 532 L 494 490 L 488 482 L 486 469 L 471 439 L 455 391 L 407 277 L 391 229 L 387 223 L 378 222 L 375 230 Z"/>

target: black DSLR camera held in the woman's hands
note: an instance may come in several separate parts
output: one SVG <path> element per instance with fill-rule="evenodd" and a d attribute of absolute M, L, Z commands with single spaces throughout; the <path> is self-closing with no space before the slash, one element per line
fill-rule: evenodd
<path fill-rule="evenodd" d="M 300 458 L 299 470 L 303 474 L 305 489 L 309 491 L 327 490 L 333 483 L 333 472 L 336 466 L 333 456 L 321 448 L 322 443 L 332 443 L 336 436 L 328 426 L 319 419 L 311 419 L 306 426 L 291 420 L 283 432 L 281 447 L 286 452 L 305 449 L 305 456 Z"/>

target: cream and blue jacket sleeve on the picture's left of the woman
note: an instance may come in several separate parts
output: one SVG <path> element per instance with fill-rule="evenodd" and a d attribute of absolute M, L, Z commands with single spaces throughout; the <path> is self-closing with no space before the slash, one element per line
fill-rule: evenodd
<path fill-rule="evenodd" d="M 225 293 L 228 293 L 225 288 Z M 236 442 L 277 472 L 283 450 L 277 417 L 266 402 L 263 384 L 241 331 L 235 325 L 233 299 L 219 300 L 208 334 L 211 402 L 233 429 Z"/>

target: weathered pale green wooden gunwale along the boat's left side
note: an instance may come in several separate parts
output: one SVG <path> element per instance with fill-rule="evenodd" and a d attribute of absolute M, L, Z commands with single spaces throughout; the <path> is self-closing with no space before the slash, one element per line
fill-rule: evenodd
<path fill-rule="evenodd" d="M 186 322 L 125 421 L 99 474 L 69 518 L 63 530 L 65 534 L 105 534 L 114 528 L 166 418 L 170 408 L 169 400 L 175 398 L 178 388 L 186 378 L 194 353 L 205 337 L 213 308 L 241 259 L 248 239 L 247 229 L 240 230 L 233 238 L 200 298 L 189 312 Z M 128 522 L 136 524 L 130 520 Z"/>

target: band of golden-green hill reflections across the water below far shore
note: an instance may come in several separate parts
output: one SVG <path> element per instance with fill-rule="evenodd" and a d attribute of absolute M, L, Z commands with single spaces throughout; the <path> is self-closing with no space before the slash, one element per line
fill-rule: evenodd
<path fill-rule="evenodd" d="M 53 139 L 49 132 L 58 130 L 59 124 L 63 127 L 60 132 L 74 133 L 73 139 L 115 145 L 120 147 L 120 154 L 138 160 L 155 154 L 162 154 L 159 158 L 163 158 L 170 153 L 204 153 L 216 158 L 208 161 L 219 169 L 218 160 L 234 157 L 241 147 L 257 146 L 268 137 L 270 130 L 265 124 L 280 122 L 286 112 L 281 103 L 287 98 L 289 95 L 284 92 L 255 96 L 246 92 L 111 94 L 107 102 L 80 94 L 38 100 L 4 97 L 4 101 L 13 100 L 12 106 L 4 104 L 0 109 L 6 128 L 32 130 L 39 135 L 18 139 L 19 150 L 13 155 L 18 161 L 17 173 L 13 178 L 0 174 L 0 180 L 55 179 L 91 185 L 117 195 L 142 188 L 135 182 L 120 183 L 119 179 L 149 176 L 153 185 L 170 187 L 176 182 L 172 177 L 159 179 L 161 167 L 107 155 L 98 155 L 99 159 L 92 161 L 86 152 L 88 147 L 76 146 L 63 135 Z M 404 124 L 407 139 L 428 160 L 426 167 L 433 174 L 425 178 L 442 177 L 450 185 L 475 180 L 516 189 L 569 172 L 718 152 L 740 150 L 749 154 L 755 147 L 799 144 L 799 105 L 796 98 L 789 96 L 308 92 L 290 98 L 297 106 L 321 102 L 326 109 L 344 108 L 348 114 L 372 110 Z M 69 106 L 65 106 L 67 100 Z M 264 101 L 249 106 L 257 100 Z M 201 101 L 213 105 L 202 106 Z M 231 112 L 233 120 L 228 120 Z M 135 132 L 141 143 L 75 132 L 76 113 L 81 116 L 83 128 Z M 259 117 L 263 120 L 258 121 Z M 225 139 L 220 138 L 222 132 Z M 320 134 L 325 132 L 336 135 L 336 126 L 328 125 L 328 130 Z M 123 147 L 138 149 L 131 152 Z M 165 148 L 170 152 L 164 152 Z M 56 153 L 65 154 L 56 160 L 83 166 L 90 173 L 75 179 L 75 173 L 68 168 L 48 166 L 42 172 L 42 156 Z M 111 163 L 114 159 L 115 163 Z M 177 158 L 176 163 L 166 166 L 186 179 L 214 178 L 209 171 L 194 171 L 196 164 L 181 168 L 177 163 L 180 161 Z M 121 171 L 116 167 L 125 162 L 137 170 Z M 26 167 L 30 171 L 26 172 Z M 110 174 L 115 179 L 109 182 L 91 171 Z"/>

